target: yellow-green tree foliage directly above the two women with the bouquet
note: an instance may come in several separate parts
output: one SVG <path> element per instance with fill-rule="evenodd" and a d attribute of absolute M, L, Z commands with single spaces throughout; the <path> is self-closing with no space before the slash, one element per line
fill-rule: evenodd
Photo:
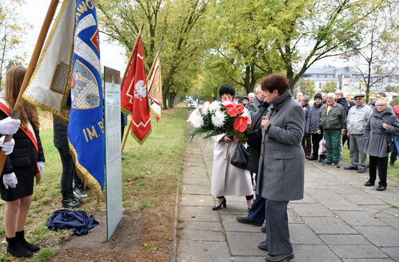
<path fill-rule="evenodd" d="M 259 79 L 279 72 L 282 63 L 271 45 L 273 35 L 267 27 L 273 1 L 221 0 L 206 15 L 212 54 L 227 73 L 230 82 L 253 92 Z"/>

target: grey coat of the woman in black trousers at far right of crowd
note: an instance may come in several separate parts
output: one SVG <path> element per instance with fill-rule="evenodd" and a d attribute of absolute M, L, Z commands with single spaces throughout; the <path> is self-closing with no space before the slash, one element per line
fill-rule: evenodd
<path fill-rule="evenodd" d="M 382 128 L 382 123 L 388 125 L 388 129 Z M 382 114 L 372 109 L 372 115 L 364 127 L 363 137 L 366 139 L 364 153 L 374 157 L 386 157 L 388 155 L 388 144 L 392 135 L 399 134 L 399 121 L 392 107 L 389 106 Z"/>

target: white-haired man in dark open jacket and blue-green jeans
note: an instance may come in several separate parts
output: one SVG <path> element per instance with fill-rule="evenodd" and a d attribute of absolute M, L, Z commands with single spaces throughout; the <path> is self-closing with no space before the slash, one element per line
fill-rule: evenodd
<path fill-rule="evenodd" d="M 317 133 L 322 134 L 324 130 L 324 139 L 326 139 L 327 161 L 323 164 L 325 166 L 332 164 L 338 168 L 340 167 L 341 134 L 346 134 L 347 114 L 342 105 L 334 99 L 333 93 L 327 94 L 327 103 L 320 109 Z"/>

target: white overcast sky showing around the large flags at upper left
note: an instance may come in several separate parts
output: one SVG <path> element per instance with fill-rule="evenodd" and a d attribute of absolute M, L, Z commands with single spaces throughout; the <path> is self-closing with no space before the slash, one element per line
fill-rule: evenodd
<path fill-rule="evenodd" d="M 24 45 L 18 49 L 17 53 L 22 54 L 23 52 L 27 52 L 27 63 L 29 63 L 29 59 L 31 58 L 31 54 L 36 44 L 36 40 L 38 37 L 38 33 L 43 24 L 43 20 L 47 13 L 48 6 L 50 5 L 50 0 L 27 0 L 27 3 L 21 7 L 21 19 L 23 22 L 29 22 L 29 24 L 33 25 L 33 29 L 26 32 L 24 35 Z M 61 7 L 61 3 L 59 6 Z M 57 15 L 57 13 L 56 13 Z M 51 30 L 51 29 L 50 29 Z M 103 33 L 100 33 L 100 62 L 101 66 L 107 66 L 109 68 L 114 68 L 121 72 L 121 76 L 126 68 L 126 59 L 123 55 L 125 50 L 114 44 L 106 43 L 107 36 Z"/>

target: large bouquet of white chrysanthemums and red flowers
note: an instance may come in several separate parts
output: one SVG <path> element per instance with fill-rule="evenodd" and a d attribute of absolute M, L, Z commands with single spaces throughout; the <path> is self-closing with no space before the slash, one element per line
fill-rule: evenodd
<path fill-rule="evenodd" d="M 188 137 L 199 134 L 204 139 L 226 134 L 227 137 L 238 135 L 241 140 L 246 140 L 251 125 L 250 115 L 245 107 L 226 99 L 204 102 L 191 113 L 187 121 L 194 127 Z"/>

